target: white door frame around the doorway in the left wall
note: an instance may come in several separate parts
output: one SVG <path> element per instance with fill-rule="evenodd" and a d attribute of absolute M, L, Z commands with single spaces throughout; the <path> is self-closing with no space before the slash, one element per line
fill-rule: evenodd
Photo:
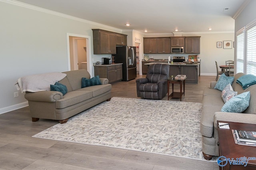
<path fill-rule="evenodd" d="M 86 39 L 86 56 L 87 56 L 87 71 L 90 73 L 92 76 L 92 54 L 91 54 L 91 37 L 90 36 L 85 36 L 85 35 L 79 35 L 79 34 L 71 34 L 67 33 L 67 47 L 68 47 L 68 71 L 71 70 L 70 68 L 70 42 L 69 42 L 69 37 L 77 37 L 77 38 L 85 38 Z M 74 43 L 74 41 L 73 41 Z M 74 50 L 76 53 L 76 50 Z M 76 58 L 77 55 L 74 55 L 74 58 Z M 76 60 L 76 59 L 74 59 Z M 76 67 L 74 67 L 76 68 Z"/>

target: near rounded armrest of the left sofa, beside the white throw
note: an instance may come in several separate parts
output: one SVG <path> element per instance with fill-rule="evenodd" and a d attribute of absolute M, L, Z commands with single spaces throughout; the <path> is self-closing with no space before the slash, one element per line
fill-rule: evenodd
<path fill-rule="evenodd" d="M 63 95 L 59 91 L 38 91 L 28 92 L 24 97 L 28 101 L 56 102 L 62 99 Z"/>

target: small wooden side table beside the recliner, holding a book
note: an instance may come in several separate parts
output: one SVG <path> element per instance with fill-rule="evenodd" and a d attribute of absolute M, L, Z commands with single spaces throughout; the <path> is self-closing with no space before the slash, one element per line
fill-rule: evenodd
<path fill-rule="evenodd" d="M 186 77 L 187 78 L 187 77 Z M 175 77 L 168 77 L 167 78 L 167 87 L 168 87 L 168 100 L 169 97 L 172 98 L 180 98 L 180 101 L 182 99 L 182 95 L 185 96 L 185 79 L 175 79 Z M 172 83 L 172 93 L 170 94 L 170 83 Z M 174 84 L 180 84 L 180 92 L 174 92 Z M 182 93 L 182 83 L 183 83 L 183 93 Z M 169 95 L 170 94 L 170 95 Z"/>

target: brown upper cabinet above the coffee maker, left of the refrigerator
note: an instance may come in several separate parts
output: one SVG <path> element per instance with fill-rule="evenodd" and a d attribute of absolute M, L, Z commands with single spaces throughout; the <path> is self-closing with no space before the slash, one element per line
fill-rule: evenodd
<path fill-rule="evenodd" d="M 92 29 L 93 53 L 116 54 L 116 34 L 100 29 Z"/>

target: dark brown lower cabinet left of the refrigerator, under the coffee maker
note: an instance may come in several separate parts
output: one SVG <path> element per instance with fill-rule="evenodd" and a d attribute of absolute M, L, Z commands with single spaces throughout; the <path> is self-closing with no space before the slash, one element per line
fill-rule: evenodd
<path fill-rule="evenodd" d="M 94 75 L 108 79 L 108 83 L 114 83 L 123 79 L 122 65 L 94 65 Z"/>

